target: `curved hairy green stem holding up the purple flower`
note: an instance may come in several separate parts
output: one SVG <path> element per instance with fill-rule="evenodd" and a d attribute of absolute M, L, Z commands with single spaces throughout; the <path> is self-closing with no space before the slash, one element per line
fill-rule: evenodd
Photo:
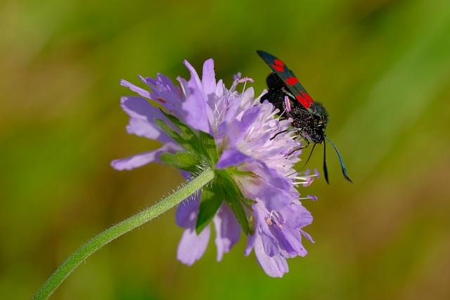
<path fill-rule="evenodd" d="M 176 204 L 179 204 L 181 201 L 185 200 L 187 197 L 195 193 L 197 190 L 206 185 L 214 178 L 214 171 L 212 169 L 206 169 L 196 178 L 191 181 L 188 181 L 185 185 L 182 185 L 181 188 L 176 190 L 172 195 L 165 197 L 160 202 L 156 203 L 152 207 L 148 207 L 147 209 L 135 214 L 134 216 L 130 216 L 128 219 L 116 224 L 108 228 L 107 230 L 99 233 L 94 238 L 86 242 L 86 244 L 79 247 L 77 251 L 72 253 L 66 259 L 62 265 L 56 269 L 55 273 L 53 273 L 49 279 L 42 285 L 41 289 L 34 294 L 33 299 L 47 299 L 49 296 L 55 292 L 58 286 L 68 278 L 70 273 L 72 273 L 77 266 L 82 263 L 82 261 L 86 260 L 91 254 L 94 254 L 98 249 L 103 247 L 108 242 L 115 240 L 117 237 L 124 235 L 125 233 L 137 228 L 144 223 L 154 219 L 165 211 L 171 209 Z"/>

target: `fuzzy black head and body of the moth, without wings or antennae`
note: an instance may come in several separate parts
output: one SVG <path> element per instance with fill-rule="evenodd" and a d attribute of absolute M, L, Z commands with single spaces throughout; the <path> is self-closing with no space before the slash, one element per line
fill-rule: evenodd
<path fill-rule="evenodd" d="M 325 107 L 319 102 L 312 103 L 309 110 L 304 108 L 297 99 L 293 98 L 288 92 L 288 87 L 283 84 L 276 74 L 271 73 L 267 77 L 267 86 L 269 91 L 262 96 L 262 100 L 268 100 L 283 116 L 293 119 L 293 127 L 297 129 L 300 135 L 309 143 L 322 143 L 325 139 L 325 129 L 328 124 L 328 113 Z M 285 96 L 290 101 L 290 110 L 288 111 L 285 103 Z"/>

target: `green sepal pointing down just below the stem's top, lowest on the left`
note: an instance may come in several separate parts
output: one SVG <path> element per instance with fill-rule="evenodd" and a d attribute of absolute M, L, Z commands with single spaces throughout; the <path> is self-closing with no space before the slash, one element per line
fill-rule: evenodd
<path fill-rule="evenodd" d="M 223 201 L 224 197 L 220 189 L 212 191 L 208 188 L 203 188 L 200 197 L 200 209 L 198 211 L 197 224 L 195 225 L 195 232 L 197 234 L 200 234 L 211 222 Z"/>

